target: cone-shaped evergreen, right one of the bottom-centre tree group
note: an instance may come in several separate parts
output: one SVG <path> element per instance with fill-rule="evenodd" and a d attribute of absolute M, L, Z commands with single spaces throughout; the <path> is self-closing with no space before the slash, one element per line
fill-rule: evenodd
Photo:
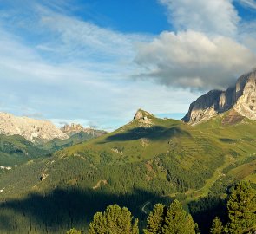
<path fill-rule="evenodd" d="M 162 228 L 164 234 L 195 234 L 196 225 L 191 215 L 183 210 L 179 201 L 174 200 L 170 205 L 165 224 Z"/>

